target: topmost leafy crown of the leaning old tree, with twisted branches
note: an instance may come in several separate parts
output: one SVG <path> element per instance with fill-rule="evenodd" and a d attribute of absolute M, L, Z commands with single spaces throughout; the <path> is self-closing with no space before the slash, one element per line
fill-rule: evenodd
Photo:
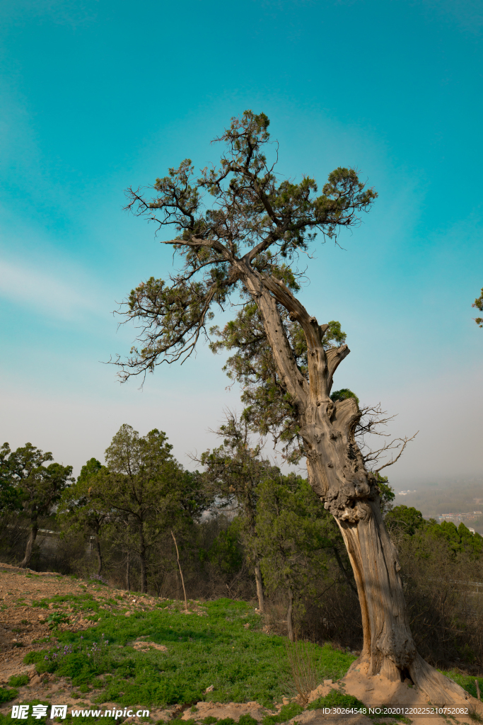
<path fill-rule="evenodd" d="M 182 258 L 183 269 L 169 284 L 151 278 L 131 292 L 124 314 L 140 322 L 140 347 L 133 347 L 122 365 L 123 379 L 153 371 L 163 360 L 184 360 L 207 332 L 212 307 L 224 307 L 233 292 L 247 292 L 246 274 L 257 273 L 262 282 L 264 276 L 283 274 L 285 258 L 308 249 L 318 232 L 336 237 L 376 198 L 354 170 L 342 167 L 329 174 L 319 196 L 314 179 L 280 181 L 274 173 L 277 159 L 272 164 L 265 156 L 268 126 L 264 114 L 245 111 L 219 139 L 227 152 L 218 168 L 206 168 L 195 178 L 185 159 L 156 179 L 156 198 L 127 192 L 129 208 L 138 215 L 174 225 L 177 238 L 167 244 Z M 212 197 L 209 208 L 206 191 Z"/>

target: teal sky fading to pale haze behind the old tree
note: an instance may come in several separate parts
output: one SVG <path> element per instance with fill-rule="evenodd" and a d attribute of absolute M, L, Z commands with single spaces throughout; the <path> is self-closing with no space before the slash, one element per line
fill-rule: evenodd
<path fill-rule="evenodd" d="M 344 249 L 316 244 L 302 299 L 340 320 L 337 373 L 419 436 L 396 488 L 482 473 L 483 6 L 465 0 L 0 2 L 0 439 L 77 472 L 122 423 L 166 431 L 182 463 L 238 405 L 201 347 L 121 386 L 101 361 L 132 329 L 112 311 L 167 276 L 154 228 L 122 210 L 246 108 L 264 111 L 279 170 L 322 186 L 353 166 L 379 192 Z M 169 239 L 169 236 L 165 236 Z M 388 471 L 389 472 L 389 471 Z"/>

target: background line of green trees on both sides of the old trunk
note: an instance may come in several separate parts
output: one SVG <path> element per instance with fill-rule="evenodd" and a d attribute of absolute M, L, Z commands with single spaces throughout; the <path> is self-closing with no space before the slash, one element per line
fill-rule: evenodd
<path fill-rule="evenodd" d="M 256 600 L 272 629 L 290 639 L 359 648 L 356 582 L 334 518 L 307 479 L 282 473 L 264 457 L 243 419 L 228 415 L 218 433 L 222 442 L 199 457 L 201 470 L 186 471 L 163 431 L 141 436 L 123 425 L 105 464 L 91 458 L 77 479 L 72 467 L 52 463 L 50 452 L 4 444 L 2 558 L 181 597 L 175 537 L 190 597 Z M 483 537 L 463 523 L 457 529 L 393 507 L 392 488 L 379 479 L 382 513 L 403 559 L 413 630 L 425 655 L 439 664 L 483 661 L 482 643 L 474 641 L 482 613 L 465 584 L 472 577 L 482 581 Z M 57 532 L 54 561 L 36 543 L 42 527 Z M 431 629 L 436 637 L 428 637 Z"/>

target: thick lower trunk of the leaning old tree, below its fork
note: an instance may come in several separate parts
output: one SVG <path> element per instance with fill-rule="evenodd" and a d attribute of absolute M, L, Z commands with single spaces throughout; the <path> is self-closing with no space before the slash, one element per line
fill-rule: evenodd
<path fill-rule="evenodd" d="M 335 517 L 356 579 L 364 645 L 353 668 L 365 665 L 368 676 L 381 674 L 393 682 L 411 679 L 433 703 L 452 695 L 460 700 L 463 689 L 417 653 L 398 553 L 382 518 L 375 476 L 365 470 L 354 439 L 359 417 L 355 399 L 329 399 L 307 405 L 302 429 L 309 481 Z"/>

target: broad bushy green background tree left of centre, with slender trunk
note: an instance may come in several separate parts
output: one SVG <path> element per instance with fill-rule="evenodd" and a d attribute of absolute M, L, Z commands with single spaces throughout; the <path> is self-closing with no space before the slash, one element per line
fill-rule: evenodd
<path fill-rule="evenodd" d="M 123 425 L 106 450 L 106 466 L 95 459 L 88 461 L 62 502 L 64 526 L 95 535 L 98 574 L 102 529 L 111 547 L 140 561 L 143 592 L 154 547 L 170 536 L 171 529 L 193 526 L 209 505 L 201 476 L 184 471 L 171 451 L 163 431 L 155 428 L 140 436 Z"/>

